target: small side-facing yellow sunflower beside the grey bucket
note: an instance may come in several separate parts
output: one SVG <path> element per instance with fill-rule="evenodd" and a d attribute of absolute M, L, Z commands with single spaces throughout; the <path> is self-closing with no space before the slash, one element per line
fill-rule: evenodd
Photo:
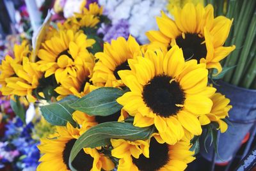
<path fill-rule="evenodd" d="M 228 125 L 222 119 L 228 117 L 228 111 L 232 108 L 230 100 L 225 98 L 221 93 L 215 93 L 211 96 L 213 102 L 211 112 L 207 115 L 202 115 L 199 117 L 200 123 L 202 125 L 209 124 L 211 121 L 219 124 L 219 129 L 221 133 L 227 131 Z"/>

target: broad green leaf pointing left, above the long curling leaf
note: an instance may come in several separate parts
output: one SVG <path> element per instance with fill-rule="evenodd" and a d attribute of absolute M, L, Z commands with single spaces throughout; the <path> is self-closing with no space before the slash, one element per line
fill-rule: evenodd
<path fill-rule="evenodd" d="M 88 115 L 107 116 L 115 114 L 115 112 L 118 112 L 122 108 L 122 105 L 119 105 L 116 99 L 124 93 L 122 89 L 100 87 L 70 104 L 70 107 Z"/>

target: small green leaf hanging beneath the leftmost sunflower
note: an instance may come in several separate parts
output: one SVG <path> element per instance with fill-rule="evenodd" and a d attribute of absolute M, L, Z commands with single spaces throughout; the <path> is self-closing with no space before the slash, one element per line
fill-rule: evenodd
<path fill-rule="evenodd" d="M 11 99 L 10 105 L 12 107 L 13 112 L 20 117 L 23 123 L 26 123 L 26 111 L 24 106 L 20 103 L 19 97 L 15 96 L 15 101 Z"/>

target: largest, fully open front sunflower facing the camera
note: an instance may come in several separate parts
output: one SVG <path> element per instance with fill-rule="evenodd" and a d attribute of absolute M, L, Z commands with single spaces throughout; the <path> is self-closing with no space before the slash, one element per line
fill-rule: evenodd
<path fill-rule="evenodd" d="M 131 71 L 118 71 L 118 75 L 131 91 L 116 101 L 134 116 L 134 126 L 154 124 L 168 144 L 179 141 L 184 129 L 193 135 L 202 133 L 197 116 L 211 111 L 208 93 L 213 89 L 207 87 L 205 64 L 185 63 L 177 45 L 165 56 L 161 50 L 147 50 L 145 57 L 128 63 Z"/>

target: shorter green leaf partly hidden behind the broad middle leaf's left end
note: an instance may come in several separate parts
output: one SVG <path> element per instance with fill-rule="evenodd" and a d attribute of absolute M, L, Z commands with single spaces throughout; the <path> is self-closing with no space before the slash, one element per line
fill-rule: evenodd
<path fill-rule="evenodd" d="M 42 115 L 49 123 L 58 126 L 66 126 L 67 122 L 71 123 L 72 126 L 76 127 L 76 122 L 72 119 L 73 108 L 68 106 L 69 103 L 76 101 L 76 96 L 68 96 L 67 98 L 40 107 Z"/>

